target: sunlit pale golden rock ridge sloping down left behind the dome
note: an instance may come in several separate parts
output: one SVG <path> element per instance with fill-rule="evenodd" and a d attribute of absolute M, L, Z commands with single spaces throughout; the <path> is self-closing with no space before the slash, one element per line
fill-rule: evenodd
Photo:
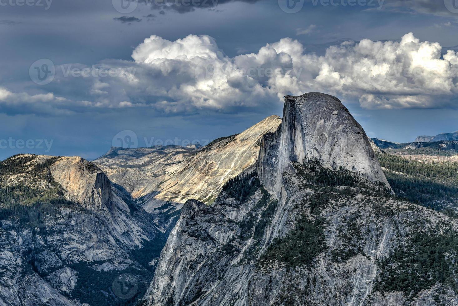
<path fill-rule="evenodd" d="M 110 180 L 131 192 L 166 231 L 186 200 L 211 203 L 226 181 L 253 167 L 262 135 L 274 131 L 280 121 L 271 115 L 240 134 L 193 150 L 179 146 L 112 148 L 94 163 Z M 131 152 L 136 158 L 131 158 Z"/>

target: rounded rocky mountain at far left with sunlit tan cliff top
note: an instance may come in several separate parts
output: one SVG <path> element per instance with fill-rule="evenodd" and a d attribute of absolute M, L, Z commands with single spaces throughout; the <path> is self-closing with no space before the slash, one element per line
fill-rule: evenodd
<path fill-rule="evenodd" d="M 138 280 L 134 295 L 143 295 L 163 235 L 94 164 L 8 158 L 0 199 L 0 305 L 115 304 L 124 296 L 113 291 L 114 278 L 126 272 Z"/>

